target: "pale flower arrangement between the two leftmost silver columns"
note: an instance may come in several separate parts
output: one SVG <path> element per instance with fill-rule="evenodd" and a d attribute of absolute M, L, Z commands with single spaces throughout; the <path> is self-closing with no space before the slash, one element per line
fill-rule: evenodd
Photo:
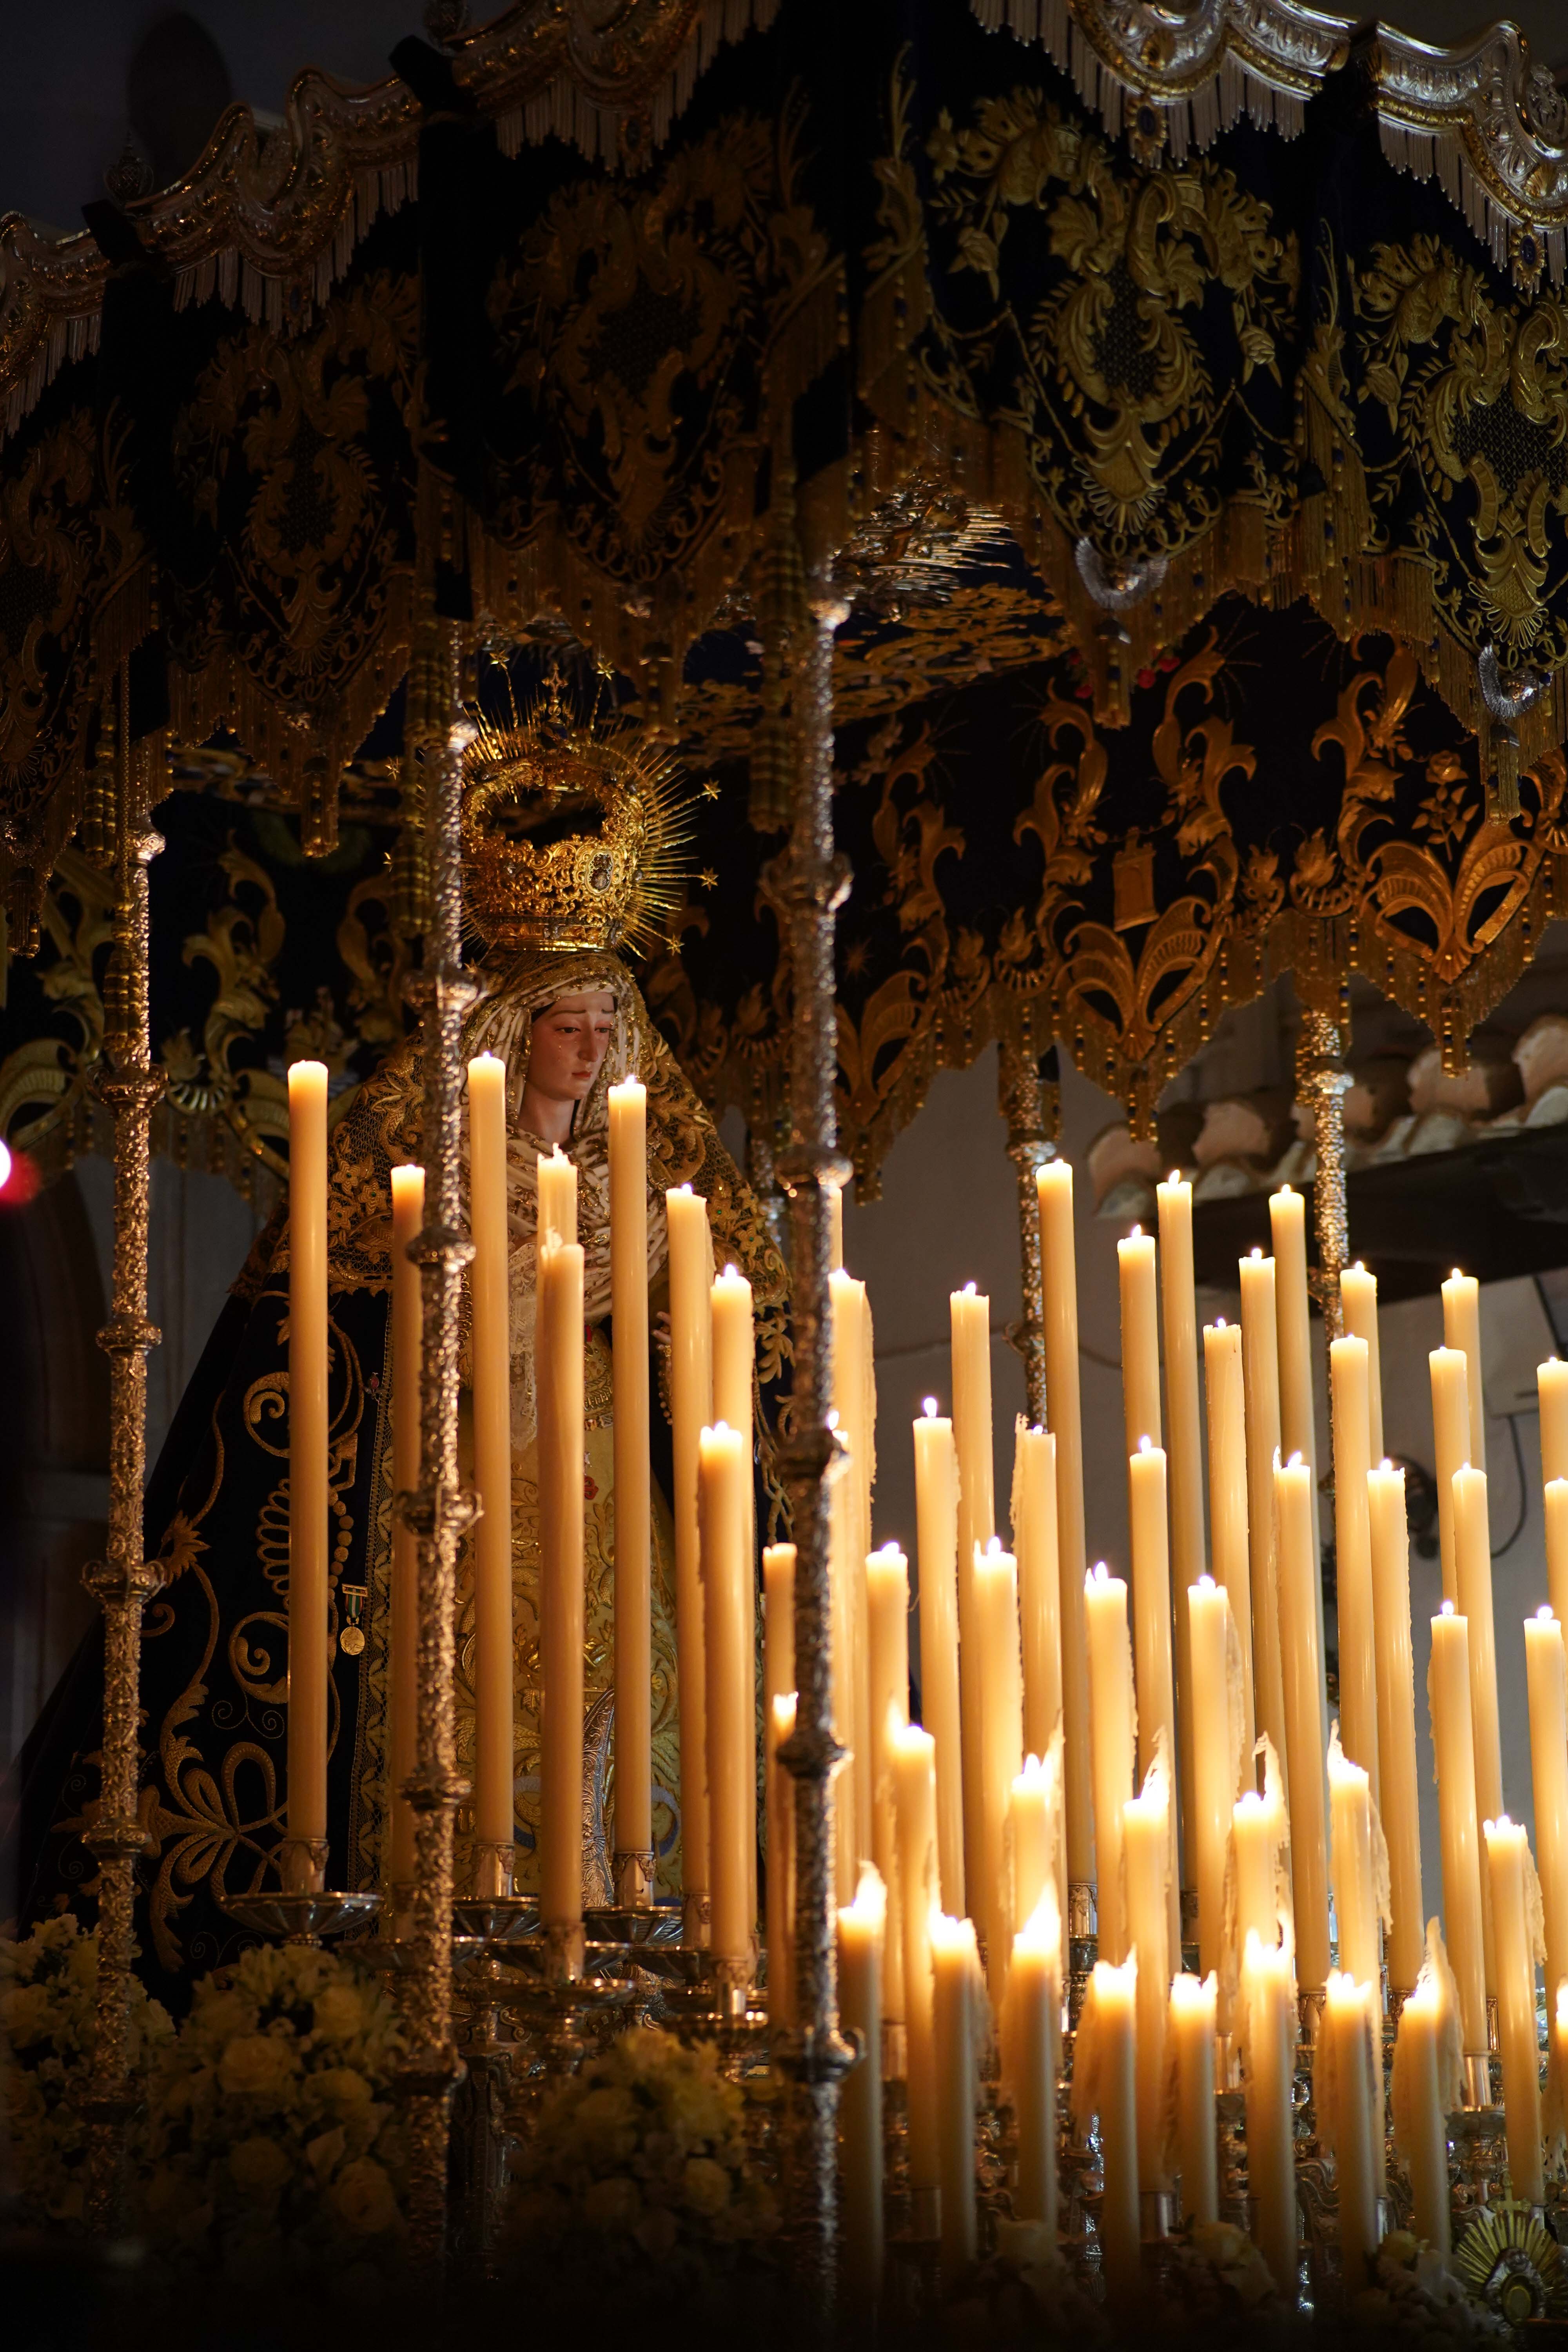
<path fill-rule="evenodd" d="M 148 2084 L 141 2225 L 179 2267 L 235 2286 L 386 2272 L 404 2147 L 397 2013 L 329 1952 L 247 1952 L 195 1987 Z"/>

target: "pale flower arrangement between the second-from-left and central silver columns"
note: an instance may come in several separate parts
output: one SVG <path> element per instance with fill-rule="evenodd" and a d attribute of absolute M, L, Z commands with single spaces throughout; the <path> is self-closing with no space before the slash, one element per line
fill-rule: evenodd
<path fill-rule="evenodd" d="M 512 2218 L 524 2260 L 557 2256 L 562 2277 L 607 2293 L 649 2267 L 712 2284 L 778 2227 L 717 2051 L 656 2027 L 621 2034 L 543 2100 Z"/>

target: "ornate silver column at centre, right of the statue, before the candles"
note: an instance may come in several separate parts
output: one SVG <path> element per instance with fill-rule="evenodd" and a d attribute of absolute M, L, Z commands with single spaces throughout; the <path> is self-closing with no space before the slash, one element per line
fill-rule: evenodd
<path fill-rule="evenodd" d="M 795 2002 L 797 2025 L 778 2042 L 795 2082 L 790 2227 L 802 2284 L 818 2324 L 832 2321 L 837 2265 L 839 2079 L 853 2056 L 839 2034 L 832 1936 L 832 1773 L 844 1755 L 832 1736 L 832 1637 L 827 1606 L 827 1477 L 837 1439 L 827 1256 L 832 1185 L 849 1164 L 837 1150 L 832 931 L 849 891 L 849 863 L 832 847 L 832 633 L 846 607 L 825 579 L 806 588 L 795 619 L 795 776 L 790 847 L 769 868 L 790 953 L 790 1143 L 778 1178 L 790 1195 L 790 1327 L 795 1385 L 778 1465 L 795 1534 L 795 1738 L 780 1762 L 795 1776 Z"/>

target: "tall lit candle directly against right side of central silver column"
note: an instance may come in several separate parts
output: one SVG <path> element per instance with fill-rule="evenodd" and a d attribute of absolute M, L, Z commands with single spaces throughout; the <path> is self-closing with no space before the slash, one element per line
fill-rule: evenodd
<path fill-rule="evenodd" d="M 839 1416 L 839 1437 L 849 1449 L 849 1461 L 839 1470 L 839 1522 L 844 1576 L 839 1656 L 835 1658 L 835 1682 L 844 1696 L 844 1729 L 839 1738 L 851 1750 L 839 1766 L 835 1804 L 839 1816 L 853 1825 L 853 1839 L 842 1851 L 849 1856 L 849 1884 L 858 1884 L 858 1863 L 872 1853 L 872 1686 L 870 1656 L 865 1646 L 865 1559 L 872 1548 L 872 1479 L 877 1475 L 877 1390 L 872 1371 L 872 1319 L 865 1284 L 842 1268 L 827 1282 L 832 1298 L 832 1404 Z"/>

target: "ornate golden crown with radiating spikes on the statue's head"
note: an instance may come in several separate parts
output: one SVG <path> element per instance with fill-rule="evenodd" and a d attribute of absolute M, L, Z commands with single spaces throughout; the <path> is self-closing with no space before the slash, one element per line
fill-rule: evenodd
<path fill-rule="evenodd" d="M 480 936 L 635 955 L 663 946 L 691 840 L 677 762 L 630 727 L 574 720 L 557 691 L 505 722 L 473 722 L 463 863 Z"/>

